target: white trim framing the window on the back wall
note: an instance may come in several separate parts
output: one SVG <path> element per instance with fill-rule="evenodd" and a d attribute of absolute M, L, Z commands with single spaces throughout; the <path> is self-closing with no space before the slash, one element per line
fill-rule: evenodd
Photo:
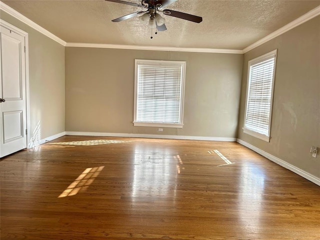
<path fill-rule="evenodd" d="M 141 122 L 136 121 L 137 115 L 137 66 L 138 63 L 176 63 L 181 64 L 181 96 L 180 96 L 180 122 L 179 123 L 161 123 L 161 122 Z M 134 108 L 133 108 L 133 126 L 151 126 L 151 127 L 172 127 L 172 128 L 182 128 L 183 127 L 183 109 L 184 109 L 184 84 L 185 84 L 185 67 L 186 61 L 171 61 L 171 60 L 145 60 L 145 59 L 135 59 L 134 60 Z"/>

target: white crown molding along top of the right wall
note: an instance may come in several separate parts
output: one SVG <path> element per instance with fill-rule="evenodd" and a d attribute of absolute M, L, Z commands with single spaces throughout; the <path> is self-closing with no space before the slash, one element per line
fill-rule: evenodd
<path fill-rule="evenodd" d="M 295 20 L 291 21 L 290 23 L 282 26 L 281 28 L 273 31 L 272 33 L 270 33 L 269 35 L 261 38 L 260 40 L 254 42 L 253 44 L 245 47 L 242 52 L 245 53 L 245 52 L 248 52 L 249 50 L 252 50 L 253 48 L 259 46 L 259 45 L 262 45 L 263 43 L 283 34 L 284 32 L 287 32 L 288 30 L 312 19 L 313 17 L 316 17 L 317 15 L 320 14 L 320 6 L 317 6 L 315 8 L 313 8 L 312 10 L 308 11 L 307 13 L 305 13 L 304 15 L 296 18 Z"/>

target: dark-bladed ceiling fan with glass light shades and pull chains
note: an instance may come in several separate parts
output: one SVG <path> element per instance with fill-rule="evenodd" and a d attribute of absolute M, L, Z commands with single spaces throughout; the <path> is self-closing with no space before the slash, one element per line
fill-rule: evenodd
<path fill-rule="evenodd" d="M 158 31 L 165 31 L 167 29 L 164 24 L 165 19 L 159 13 L 157 13 L 158 11 L 162 12 L 164 15 L 174 16 L 177 18 L 193 21 L 196 23 L 200 23 L 202 21 L 202 17 L 200 16 L 195 16 L 188 13 L 174 11 L 170 9 L 163 9 L 165 6 L 175 2 L 176 0 L 142 0 L 141 4 L 129 2 L 129 1 L 122 1 L 122 0 L 106 0 L 106 1 L 112 1 L 112 2 L 139 6 L 144 8 L 144 10 L 132 12 L 130 14 L 115 18 L 112 20 L 113 22 L 123 21 L 143 13 L 142 15 L 139 16 L 139 21 L 142 24 L 145 24 L 145 25 L 148 24 L 150 28 L 157 29 Z"/>

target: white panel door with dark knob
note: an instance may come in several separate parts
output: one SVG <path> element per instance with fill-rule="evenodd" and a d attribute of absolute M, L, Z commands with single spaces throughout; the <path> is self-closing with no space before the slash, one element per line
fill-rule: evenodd
<path fill-rule="evenodd" d="M 0 157 L 26 147 L 24 37 L 0 31 Z"/>

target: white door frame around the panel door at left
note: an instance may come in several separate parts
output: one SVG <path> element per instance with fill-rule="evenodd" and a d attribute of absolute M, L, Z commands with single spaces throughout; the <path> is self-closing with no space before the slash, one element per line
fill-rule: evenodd
<path fill-rule="evenodd" d="M 0 25 L 4 28 L 7 28 L 10 31 L 17 33 L 20 36 L 24 37 L 24 46 L 25 46 L 25 108 L 26 108 L 26 148 L 31 148 L 33 146 L 30 144 L 30 101 L 29 101 L 29 41 L 28 41 L 28 33 L 17 28 L 16 26 L 0 19 Z"/>

